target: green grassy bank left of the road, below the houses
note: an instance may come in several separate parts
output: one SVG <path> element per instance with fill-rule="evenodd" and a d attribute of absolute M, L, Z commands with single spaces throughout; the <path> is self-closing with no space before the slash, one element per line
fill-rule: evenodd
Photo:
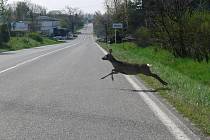
<path fill-rule="evenodd" d="M 63 43 L 60 41 L 51 40 L 49 38 L 43 38 L 43 42 L 38 42 L 32 38 L 28 37 L 12 37 L 7 44 L 2 45 L 0 48 L 0 52 L 3 51 L 15 51 L 33 47 L 39 47 L 43 45 L 52 45 Z"/>

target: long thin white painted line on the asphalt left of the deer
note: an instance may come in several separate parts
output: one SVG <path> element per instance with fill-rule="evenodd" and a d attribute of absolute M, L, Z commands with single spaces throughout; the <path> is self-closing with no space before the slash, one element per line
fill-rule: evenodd
<path fill-rule="evenodd" d="M 0 71 L 0 74 L 5 73 L 5 72 L 7 72 L 7 71 L 9 71 L 9 70 L 15 69 L 15 68 L 17 68 L 17 67 L 20 67 L 20 66 L 22 66 L 22 65 L 24 65 L 24 64 L 33 62 L 33 61 L 35 61 L 35 60 L 37 60 L 37 59 L 40 59 L 40 58 L 42 58 L 42 57 L 45 57 L 45 56 L 47 56 L 47 55 L 51 55 L 51 54 L 57 53 L 57 52 L 59 52 L 59 51 L 62 51 L 62 50 L 64 50 L 64 49 L 70 48 L 70 47 L 72 47 L 72 46 L 76 46 L 76 45 L 78 45 L 78 44 L 80 44 L 80 43 L 76 43 L 76 44 L 73 44 L 73 45 L 71 45 L 71 46 L 67 46 L 67 47 L 64 47 L 64 48 L 61 48 L 61 49 L 57 49 L 57 50 L 51 51 L 51 52 L 49 52 L 49 53 L 46 53 L 46 54 L 37 56 L 37 57 L 35 57 L 35 58 L 32 58 L 32 59 L 23 61 L 23 62 L 21 62 L 21 63 L 19 63 L 19 64 L 16 64 L 16 65 L 13 66 L 13 67 L 10 67 L 10 68 L 7 68 L 7 69 L 5 69 L 5 70 Z"/>

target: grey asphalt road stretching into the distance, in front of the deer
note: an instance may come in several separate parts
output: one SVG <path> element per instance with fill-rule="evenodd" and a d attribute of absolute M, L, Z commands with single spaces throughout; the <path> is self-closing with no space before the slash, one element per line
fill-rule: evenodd
<path fill-rule="evenodd" d="M 91 25 L 68 43 L 1 53 L 0 139 L 199 139 L 139 81 L 100 80 L 112 68 L 103 55 Z"/>

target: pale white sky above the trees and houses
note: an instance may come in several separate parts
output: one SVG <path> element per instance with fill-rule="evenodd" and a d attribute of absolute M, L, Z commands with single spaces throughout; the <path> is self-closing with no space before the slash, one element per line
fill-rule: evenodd
<path fill-rule="evenodd" d="M 13 3 L 23 0 L 8 0 Z M 66 6 L 81 9 L 84 13 L 104 12 L 104 0 L 30 0 L 32 3 L 39 4 L 50 10 L 64 10 Z"/>

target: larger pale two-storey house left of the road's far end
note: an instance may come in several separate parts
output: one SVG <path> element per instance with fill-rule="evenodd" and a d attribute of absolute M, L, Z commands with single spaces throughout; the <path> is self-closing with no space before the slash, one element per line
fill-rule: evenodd
<path fill-rule="evenodd" d="M 60 28 L 60 20 L 48 16 L 39 16 L 37 18 L 39 31 L 46 35 L 52 35 L 55 28 Z"/>

